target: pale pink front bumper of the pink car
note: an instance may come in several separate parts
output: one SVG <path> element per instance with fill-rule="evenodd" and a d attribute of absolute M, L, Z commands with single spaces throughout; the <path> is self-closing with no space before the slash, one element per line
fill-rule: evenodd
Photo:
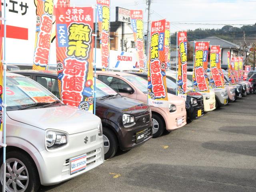
<path fill-rule="evenodd" d="M 166 120 L 166 130 L 171 131 L 183 127 L 186 122 L 187 112 L 186 105 L 176 106 L 175 112 L 169 112 L 168 120 Z M 179 123 L 181 122 L 181 123 Z M 178 124 L 179 123 L 179 124 Z"/>

